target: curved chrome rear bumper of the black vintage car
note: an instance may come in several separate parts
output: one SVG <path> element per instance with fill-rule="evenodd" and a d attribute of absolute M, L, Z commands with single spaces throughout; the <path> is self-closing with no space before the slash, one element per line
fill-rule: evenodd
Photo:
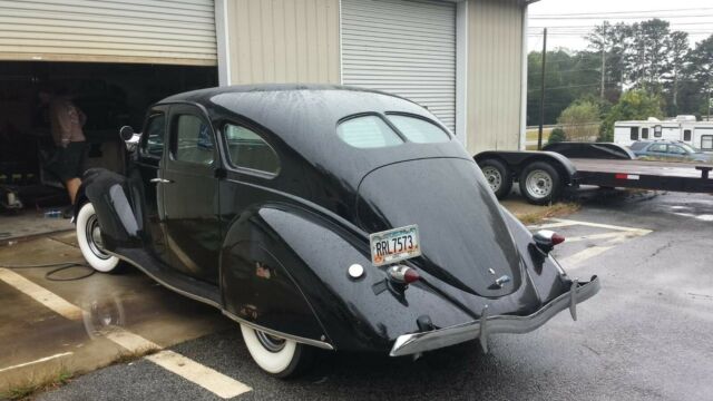
<path fill-rule="evenodd" d="M 466 341 L 480 339 L 484 351 L 488 352 L 488 335 L 492 333 L 527 333 L 530 332 L 557 313 L 569 309 L 574 320 L 577 320 L 576 305 L 599 292 L 599 278 L 593 276 L 588 283 L 572 283 L 572 288 L 544 305 L 537 312 L 528 316 L 498 315 L 489 316 L 488 306 L 482 311 L 481 319 L 463 324 L 432 330 L 428 332 L 400 335 L 391 349 L 391 356 L 401 356 L 437 350 L 443 346 L 455 345 Z"/>

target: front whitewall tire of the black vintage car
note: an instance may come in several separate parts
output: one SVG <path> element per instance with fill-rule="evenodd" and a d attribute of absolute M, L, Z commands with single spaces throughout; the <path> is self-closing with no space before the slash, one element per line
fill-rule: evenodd
<path fill-rule="evenodd" d="M 107 254 L 102 248 L 101 228 L 91 203 L 86 203 L 77 214 L 77 243 L 87 263 L 101 273 L 116 272 L 119 258 Z"/>

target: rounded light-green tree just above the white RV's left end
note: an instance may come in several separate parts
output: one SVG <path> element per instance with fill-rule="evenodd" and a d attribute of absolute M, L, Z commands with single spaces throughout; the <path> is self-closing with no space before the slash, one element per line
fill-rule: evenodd
<path fill-rule="evenodd" d="M 648 117 L 663 118 L 660 95 L 651 95 L 642 89 L 624 92 L 616 105 L 606 114 L 599 130 L 599 141 L 614 140 L 614 123 L 621 120 L 641 120 Z"/>

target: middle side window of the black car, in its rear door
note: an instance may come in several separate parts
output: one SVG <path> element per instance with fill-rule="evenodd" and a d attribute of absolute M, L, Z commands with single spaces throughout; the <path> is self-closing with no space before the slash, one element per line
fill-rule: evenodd
<path fill-rule="evenodd" d="M 209 166 L 215 157 L 211 126 L 201 117 L 185 114 L 172 118 L 175 160 Z"/>

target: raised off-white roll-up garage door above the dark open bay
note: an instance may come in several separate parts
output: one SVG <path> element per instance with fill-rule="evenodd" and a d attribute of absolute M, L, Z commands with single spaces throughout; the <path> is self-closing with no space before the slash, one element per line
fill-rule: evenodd
<path fill-rule="evenodd" d="M 0 60 L 214 66 L 213 0 L 0 0 Z"/>

